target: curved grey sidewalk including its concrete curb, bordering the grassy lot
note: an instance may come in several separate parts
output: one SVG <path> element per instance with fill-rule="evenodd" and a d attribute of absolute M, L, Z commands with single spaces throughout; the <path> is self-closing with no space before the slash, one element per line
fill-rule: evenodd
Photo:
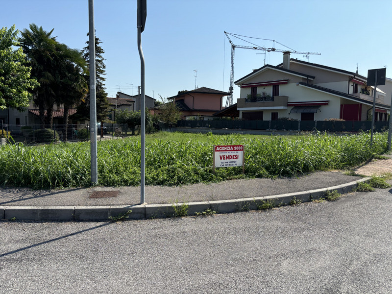
<path fill-rule="evenodd" d="M 355 172 L 366 176 L 392 172 L 390 159 L 373 160 Z M 130 218 L 162 217 L 172 212 L 172 203 L 186 202 L 188 214 L 214 206 L 220 212 L 241 210 L 256 200 L 289 203 L 323 196 L 325 190 L 347 193 L 364 178 L 342 172 L 314 172 L 298 178 L 230 180 L 217 184 L 179 187 L 146 186 L 140 205 L 140 187 L 92 187 L 65 190 L 0 189 L 0 219 L 99 220 L 131 209 Z M 278 199 L 278 200 L 277 200 Z"/>

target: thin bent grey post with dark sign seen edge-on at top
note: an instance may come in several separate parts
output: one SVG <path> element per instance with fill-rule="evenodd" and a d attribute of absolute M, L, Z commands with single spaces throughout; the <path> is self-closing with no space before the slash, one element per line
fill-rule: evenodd
<path fill-rule="evenodd" d="M 142 32 L 146 25 L 147 17 L 147 0 L 138 0 L 137 10 L 137 27 L 138 27 L 138 48 L 140 55 L 140 70 L 141 70 L 141 103 L 140 111 L 142 113 L 141 129 L 141 165 L 140 165 L 140 203 L 145 203 L 145 174 L 146 174 L 146 95 L 145 95 L 145 62 L 142 50 Z"/>

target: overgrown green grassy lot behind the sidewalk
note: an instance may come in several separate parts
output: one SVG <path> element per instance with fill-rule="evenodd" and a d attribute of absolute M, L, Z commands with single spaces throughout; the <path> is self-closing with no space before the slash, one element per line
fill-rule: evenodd
<path fill-rule="evenodd" d="M 356 166 L 387 149 L 387 133 L 336 136 L 212 135 L 159 132 L 146 139 L 146 184 L 179 185 L 243 177 L 294 176 Z M 245 145 L 242 168 L 212 174 L 213 145 Z M 98 142 L 102 186 L 140 184 L 140 139 Z M 90 185 L 90 143 L 0 149 L 0 184 L 33 188 Z"/>

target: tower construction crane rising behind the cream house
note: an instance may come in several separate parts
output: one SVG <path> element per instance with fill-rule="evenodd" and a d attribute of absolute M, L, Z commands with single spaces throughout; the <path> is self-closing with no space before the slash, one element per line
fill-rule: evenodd
<path fill-rule="evenodd" d="M 287 47 L 281 43 L 279 43 L 278 41 L 275 40 L 270 40 L 270 39 L 262 39 L 262 38 L 254 38 L 254 37 L 247 37 L 247 36 L 242 36 L 242 35 L 237 35 L 237 34 L 232 34 L 232 33 L 228 33 L 228 32 L 224 32 L 227 39 L 229 39 L 229 42 L 231 44 L 231 66 L 230 66 L 230 87 L 229 87 L 229 92 L 230 95 L 227 97 L 226 100 L 226 107 L 227 104 L 229 103 L 229 106 L 233 105 L 233 90 L 234 90 L 234 49 L 235 48 L 242 48 L 242 49 L 253 49 L 253 50 L 262 50 L 264 52 L 290 52 L 290 53 L 295 53 L 295 54 L 305 54 L 306 58 L 309 60 L 309 55 L 310 54 L 317 54 L 320 55 L 321 53 L 316 53 L 316 52 L 299 52 L 296 51 L 294 49 L 291 49 L 290 47 Z M 253 46 L 242 46 L 242 45 L 235 45 L 229 36 L 235 37 L 237 39 L 243 40 Z M 262 46 L 258 46 L 256 44 L 253 44 L 249 41 L 246 41 L 240 37 L 244 37 L 244 38 L 251 38 L 251 39 L 258 39 L 258 40 L 265 40 L 265 41 L 272 41 L 272 48 L 266 48 L 266 47 L 262 47 Z M 286 47 L 287 49 L 276 49 L 275 48 L 275 42 L 278 43 L 279 45 L 282 45 L 284 47 Z"/>

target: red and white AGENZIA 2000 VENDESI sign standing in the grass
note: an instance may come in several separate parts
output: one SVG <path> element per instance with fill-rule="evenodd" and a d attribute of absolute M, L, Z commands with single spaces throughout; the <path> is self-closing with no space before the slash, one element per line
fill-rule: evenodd
<path fill-rule="evenodd" d="M 243 167 L 244 145 L 214 146 L 213 170 L 215 168 Z"/>

